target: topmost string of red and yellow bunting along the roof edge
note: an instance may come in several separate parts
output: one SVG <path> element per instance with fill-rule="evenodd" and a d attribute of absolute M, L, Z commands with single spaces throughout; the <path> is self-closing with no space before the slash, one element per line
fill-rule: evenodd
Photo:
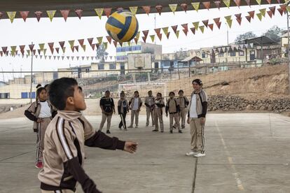
<path fill-rule="evenodd" d="M 242 0 L 233 0 L 235 2 L 235 5 L 240 8 L 240 4 Z M 261 5 L 261 0 L 244 0 L 247 2 L 247 5 L 251 7 L 251 1 L 256 1 L 258 5 Z M 277 0 L 277 3 L 282 3 L 284 1 L 287 3 L 289 0 Z M 274 3 L 272 0 L 267 0 L 269 4 Z M 209 8 L 221 8 L 221 3 L 224 3 L 224 5 L 228 8 L 230 8 L 230 3 L 231 0 L 214 0 L 214 5 L 215 7 L 212 7 L 212 2 L 211 1 L 203 1 L 203 2 L 193 2 L 188 5 L 188 3 L 180 3 L 180 4 L 169 4 L 168 6 L 170 7 L 170 10 L 172 10 L 172 13 L 175 14 L 177 11 L 178 6 L 180 6 L 181 10 L 187 11 L 187 10 L 196 10 L 198 11 L 200 7 L 202 6 L 203 8 L 209 10 Z M 137 11 L 140 7 L 138 6 L 130 6 L 128 9 L 132 12 L 133 15 L 137 14 Z M 155 6 L 156 11 L 161 15 L 163 12 L 163 6 L 158 4 Z M 151 13 L 151 6 L 141 6 L 141 9 L 149 15 Z M 103 15 L 106 15 L 106 17 L 109 17 L 112 13 L 112 10 L 123 10 L 123 8 L 94 8 L 96 15 L 99 17 L 99 19 L 102 18 Z M 82 9 L 76 9 L 76 10 L 59 10 L 60 14 L 64 18 L 64 21 L 67 21 L 67 18 L 71 15 L 74 15 L 78 17 L 81 20 L 81 17 L 83 16 L 83 10 Z M 41 20 L 41 17 L 44 15 L 47 15 L 47 17 L 50 19 L 50 22 L 53 21 L 53 18 L 55 17 L 55 13 L 57 10 L 38 10 L 35 11 L 34 13 L 30 13 L 30 11 L 7 11 L 6 15 L 9 20 L 11 20 L 11 23 L 13 23 L 15 17 L 17 14 L 20 15 L 20 17 L 26 22 L 27 17 L 29 14 L 33 14 L 36 17 L 36 20 L 39 22 Z M 0 11 L 0 19 L 3 18 L 5 15 L 5 12 Z"/>

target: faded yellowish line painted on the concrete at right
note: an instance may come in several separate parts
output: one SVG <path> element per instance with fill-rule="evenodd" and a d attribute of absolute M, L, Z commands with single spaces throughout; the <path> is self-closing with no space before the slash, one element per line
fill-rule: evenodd
<path fill-rule="evenodd" d="M 233 170 L 233 176 L 235 177 L 235 182 L 237 183 L 237 189 L 244 190 L 242 180 L 240 180 L 240 174 L 235 168 L 235 164 L 233 162 L 233 158 L 230 156 L 230 152 L 228 152 L 228 148 L 226 147 L 226 142 L 223 140 L 221 130 L 219 130 L 219 126 L 216 121 L 214 121 L 214 124 L 216 125 L 216 130 L 219 132 L 219 137 L 221 138 L 221 143 L 223 143 L 223 148 L 225 149 L 226 155 L 228 156 L 228 163 L 230 164 L 230 168 Z"/>

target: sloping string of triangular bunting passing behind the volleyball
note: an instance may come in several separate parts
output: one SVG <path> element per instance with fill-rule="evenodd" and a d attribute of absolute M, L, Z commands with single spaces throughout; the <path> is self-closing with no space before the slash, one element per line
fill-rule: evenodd
<path fill-rule="evenodd" d="M 256 10 L 251 10 L 247 12 L 247 15 L 242 17 L 242 13 L 235 14 L 235 15 L 228 15 L 224 17 L 224 20 L 226 20 L 226 23 L 228 24 L 228 27 L 232 27 L 233 25 L 233 20 L 236 20 L 239 25 L 242 24 L 242 19 L 246 18 L 248 22 L 251 22 L 251 20 L 254 20 L 254 17 L 258 17 L 258 20 L 262 21 L 263 17 L 265 17 L 265 14 L 267 13 L 270 18 L 272 18 L 273 15 L 275 15 L 275 10 L 279 11 L 280 15 L 283 15 L 287 11 L 290 12 L 290 6 L 286 6 L 286 4 L 280 5 L 280 6 L 272 6 L 269 8 L 262 8 L 259 9 L 258 11 Z M 269 10 L 267 10 L 269 9 Z M 258 12 L 258 13 L 257 13 Z M 163 27 L 163 28 L 157 28 L 151 30 L 154 34 L 149 35 L 150 31 L 149 30 L 144 30 L 144 31 L 139 31 L 137 33 L 137 36 L 134 38 L 134 43 L 137 44 L 139 41 L 139 38 L 141 36 L 141 33 L 144 36 L 141 36 L 141 39 L 146 43 L 148 36 L 151 38 L 151 42 L 154 43 L 156 36 L 157 38 L 162 41 L 163 36 L 165 36 L 167 39 L 169 39 L 171 36 L 170 34 L 173 32 L 177 38 L 179 38 L 180 31 L 184 32 L 185 36 L 188 36 L 188 32 L 191 31 L 193 34 L 197 33 L 197 31 L 200 31 L 202 34 L 204 34 L 205 29 L 209 29 L 210 31 L 214 30 L 214 24 L 218 29 L 221 28 L 221 17 L 216 17 L 212 19 L 212 22 L 209 22 L 209 20 L 202 20 L 199 22 L 192 22 L 193 27 L 190 27 L 188 23 L 186 24 L 181 24 L 179 25 L 173 25 L 170 27 Z M 181 29 L 180 29 L 181 28 Z M 172 29 L 172 31 L 170 31 Z M 163 32 L 163 33 L 162 33 Z M 85 45 L 85 41 L 88 42 L 88 45 Z M 95 41 L 95 42 L 94 42 Z M 5 56 L 11 53 L 12 56 L 17 55 L 18 53 L 25 55 L 26 54 L 30 55 L 32 52 L 34 55 L 36 55 L 36 52 L 39 55 L 46 55 L 48 50 L 50 51 L 51 55 L 54 53 L 57 54 L 64 54 L 67 50 L 67 48 L 70 48 L 71 52 L 79 52 L 80 50 L 83 50 L 85 52 L 87 50 L 87 47 L 90 47 L 92 50 L 97 50 L 99 49 L 99 45 L 104 45 L 104 48 L 107 49 L 109 45 L 114 45 L 117 47 L 119 44 L 120 46 L 123 45 L 123 43 L 119 43 L 116 41 L 113 41 L 111 36 L 99 36 L 97 38 L 86 38 L 86 39 L 78 39 L 78 40 L 71 40 L 71 41 L 59 41 L 57 43 L 39 43 L 38 47 L 36 44 L 30 44 L 30 45 L 13 45 L 13 46 L 2 46 L 0 50 L 0 56 Z M 128 42 L 129 45 L 132 44 L 132 42 Z M 28 49 L 28 50 L 27 50 Z"/>

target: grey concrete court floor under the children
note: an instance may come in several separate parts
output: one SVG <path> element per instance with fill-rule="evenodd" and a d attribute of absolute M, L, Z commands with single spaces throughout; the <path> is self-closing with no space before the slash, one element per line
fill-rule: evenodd
<path fill-rule="evenodd" d="M 209 114 L 206 157 L 186 157 L 190 135 L 153 133 L 145 128 L 112 136 L 139 143 L 135 155 L 87 148 L 85 171 L 99 190 L 115 192 L 290 192 L 290 117 L 272 113 Z M 98 127 L 100 117 L 88 117 Z M 0 192 L 40 192 L 34 168 L 36 136 L 25 118 L 0 120 Z M 194 187 L 194 188 L 193 188 Z M 82 192 L 78 188 L 78 192 Z"/>

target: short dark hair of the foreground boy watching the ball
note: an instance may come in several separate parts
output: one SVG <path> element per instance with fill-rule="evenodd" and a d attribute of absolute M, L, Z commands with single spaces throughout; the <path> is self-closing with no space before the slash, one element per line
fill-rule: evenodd
<path fill-rule="evenodd" d="M 74 78 L 60 78 L 50 84 L 49 99 L 58 110 L 64 110 L 69 96 L 74 96 L 74 86 L 78 85 Z"/>

